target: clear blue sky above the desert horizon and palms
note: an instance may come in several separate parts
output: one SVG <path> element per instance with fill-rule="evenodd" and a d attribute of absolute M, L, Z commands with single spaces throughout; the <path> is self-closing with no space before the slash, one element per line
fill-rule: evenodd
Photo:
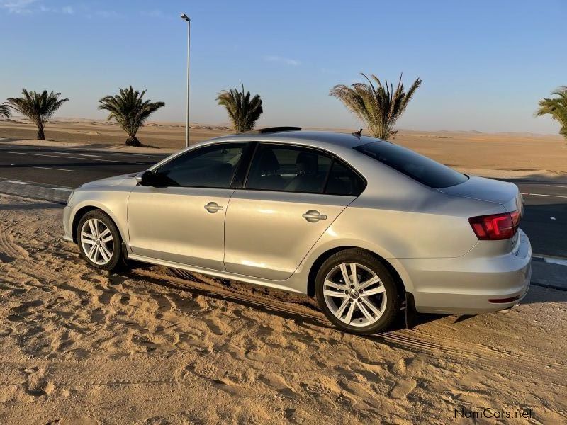
<path fill-rule="evenodd" d="M 220 89 L 262 95 L 260 125 L 359 128 L 335 98 L 359 72 L 423 80 L 399 128 L 556 133 L 537 102 L 567 85 L 567 2 L 0 0 L 0 101 L 60 91 L 60 116 L 103 118 L 119 86 L 184 120 L 191 16 L 191 120 L 222 123 Z"/>

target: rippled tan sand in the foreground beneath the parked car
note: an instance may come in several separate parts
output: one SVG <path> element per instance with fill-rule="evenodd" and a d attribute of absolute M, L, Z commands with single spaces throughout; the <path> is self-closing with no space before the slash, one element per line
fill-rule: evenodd
<path fill-rule="evenodd" d="M 0 197 L 2 424 L 468 424 L 455 409 L 485 408 L 567 421 L 565 292 L 352 336 L 301 295 L 96 271 L 61 220 L 60 206 Z"/>

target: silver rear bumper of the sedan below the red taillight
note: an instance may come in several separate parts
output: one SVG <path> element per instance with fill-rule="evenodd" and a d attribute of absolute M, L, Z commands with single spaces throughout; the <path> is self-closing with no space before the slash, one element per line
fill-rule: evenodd
<path fill-rule="evenodd" d="M 521 229 L 518 232 L 519 243 L 510 254 L 400 260 L 414 286 L 415 310 L 479 314 L 520 302 L 529 290 L 532 247 L 527 235 Z"/>

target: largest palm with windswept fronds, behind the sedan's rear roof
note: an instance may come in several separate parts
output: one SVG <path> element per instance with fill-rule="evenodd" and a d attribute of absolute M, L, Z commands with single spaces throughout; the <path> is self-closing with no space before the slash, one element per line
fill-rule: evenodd
<path fill-rule="evenodd" d="M 388 140 L 393 133 L 395 122 L 405 111 L 421 80 L 415 79 L 410 89 L 405 92 L 401 74 L 395 91 L 392 84 L 388 87 L 388 81 L 384 81 L 382 85 L 376 75 L 371 75 L 376 87 L 366 74 L 361 73 L 361 75 L 369 84 L 354 83 L 351 86 L 337 84 L 331 89 L 329 96 L 335 96 L 342 101 L 344 106 L 366 124 L 374 137 Z"/>

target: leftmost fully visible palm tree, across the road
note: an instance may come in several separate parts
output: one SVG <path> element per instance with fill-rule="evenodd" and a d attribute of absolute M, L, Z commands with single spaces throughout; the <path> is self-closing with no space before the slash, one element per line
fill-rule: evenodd
<path fill-rule="evenodd" d="M 47 93 L 47 90 L 38 93 L 22 89 L 22 94 L 20 98 L 9 98 L 6 103 L 13 110 L 30 118 L 38 126 L 38 140 L 45 140 L 45 124 L 69 99 L 60 99 L 60 93 Z"/>

